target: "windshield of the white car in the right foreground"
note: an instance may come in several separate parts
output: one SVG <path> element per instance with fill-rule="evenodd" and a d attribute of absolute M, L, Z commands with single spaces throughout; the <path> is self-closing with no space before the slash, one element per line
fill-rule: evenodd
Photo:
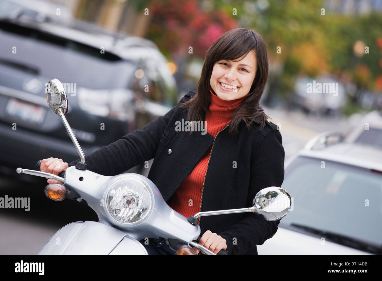
<path fill-rule="evenodd" d="M 382 173 L 322 159 L 297 157 L 282 184 L 292 197 L 280 221 L 382 244 Z"/>

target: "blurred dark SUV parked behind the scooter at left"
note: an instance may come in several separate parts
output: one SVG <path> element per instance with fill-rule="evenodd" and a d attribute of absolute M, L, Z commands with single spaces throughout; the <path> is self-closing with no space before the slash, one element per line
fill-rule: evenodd
<path fill-rule="evenodd" d="M 53 78 L 66 87 L 66 118 L 85 155 L 141 129 L 178 102 L 167 61 L 147 39 L 22 10 L 0 19 L 0 42 L 3 173 L 34 169 L 49 157 L 68 163 L 79 158 L 47 107 L 46 86 Z"/>

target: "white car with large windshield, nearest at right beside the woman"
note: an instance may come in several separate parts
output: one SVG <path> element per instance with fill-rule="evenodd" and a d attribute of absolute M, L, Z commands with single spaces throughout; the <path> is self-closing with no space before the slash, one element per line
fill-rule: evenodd
<path fill-rule="evenodd" d="M 292 198 L 259 255 L 382 253 L 382 150 L 324 132 L 285 163 Z"/>

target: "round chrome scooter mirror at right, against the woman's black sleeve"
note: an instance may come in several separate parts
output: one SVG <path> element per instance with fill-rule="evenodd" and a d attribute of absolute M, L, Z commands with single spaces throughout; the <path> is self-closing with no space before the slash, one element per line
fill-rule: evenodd
<path fill-rule="evenodd" d="M 292 200 L 285 189 L 272 186 L 257 192 L 253 206 L 256 213 L 263 215 L 266 221 L 277 221 L 289 212 Z"/>

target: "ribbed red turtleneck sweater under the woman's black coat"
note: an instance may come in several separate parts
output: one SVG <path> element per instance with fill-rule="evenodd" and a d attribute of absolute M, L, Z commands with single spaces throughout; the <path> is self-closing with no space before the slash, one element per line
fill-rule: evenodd
<path fill-rule="evenodd" d="M 207 132 L 216 137 L 227 124 L 231 122 L 231 115 L 241 104 L 244 97 L 225 101 L 220 99 L 210 88 L 210 105 L 206 114 Z M 174 195 L 168 201 L 168 205 L 186 218 L 200 211 L 202 188 L 207 172 L 212 145 L 202 156 L 193 171 L 186 177 Z M 213 210 L 211 210 L 213 211 Z M 198 223 L 199 224 L 199 223 Z"/>

